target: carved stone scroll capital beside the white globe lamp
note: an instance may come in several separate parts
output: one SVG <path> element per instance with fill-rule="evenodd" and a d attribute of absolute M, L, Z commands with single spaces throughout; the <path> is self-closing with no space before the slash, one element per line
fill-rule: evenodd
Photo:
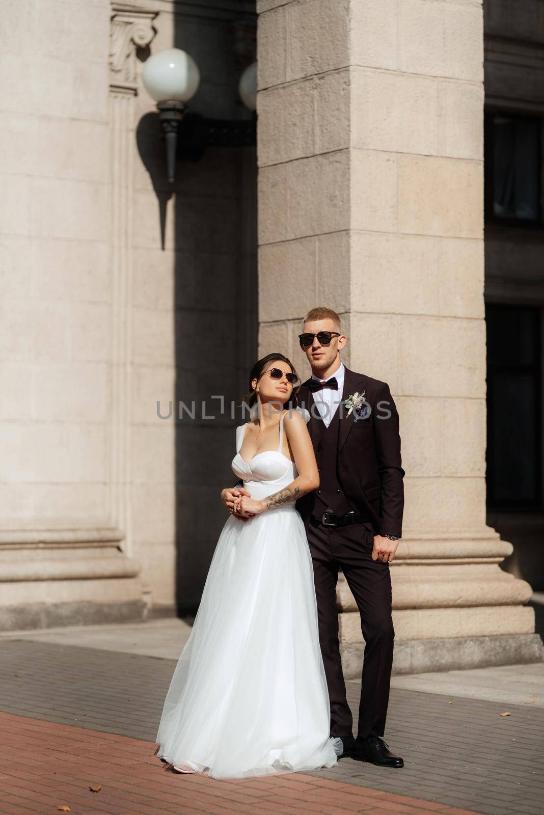
<path fill-rule="evenodd" d="M 112 3 L 109 57 L 112 85 L 136 87 L 136 51 L 148 46 L 155 37 L 152 22 L 158 13 L 129 3 Z"/>

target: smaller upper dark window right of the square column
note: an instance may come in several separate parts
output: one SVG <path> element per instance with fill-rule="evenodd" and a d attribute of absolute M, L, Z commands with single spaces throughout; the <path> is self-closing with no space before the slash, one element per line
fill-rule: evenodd
<path fill-rule="evenodd" d="M 538 117 L 485 117 L 486 220 L 541 222 L 541 130 Z"/>

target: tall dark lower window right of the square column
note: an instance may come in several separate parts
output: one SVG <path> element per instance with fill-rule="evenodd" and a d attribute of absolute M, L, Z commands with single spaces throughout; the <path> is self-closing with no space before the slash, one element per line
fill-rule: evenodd
<path fill-rule="evenodd" d="M 488 304 L 485 319 L 488 509 L 541 509 L 541 311 Z"/>

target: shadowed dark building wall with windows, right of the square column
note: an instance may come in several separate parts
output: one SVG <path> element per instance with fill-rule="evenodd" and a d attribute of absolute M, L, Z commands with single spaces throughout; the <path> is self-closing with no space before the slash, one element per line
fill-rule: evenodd
<path fill-rule="evenodd" d="M 542 4 L 485 4 L 484 42 L 488 522 L 542 592 Z"/>

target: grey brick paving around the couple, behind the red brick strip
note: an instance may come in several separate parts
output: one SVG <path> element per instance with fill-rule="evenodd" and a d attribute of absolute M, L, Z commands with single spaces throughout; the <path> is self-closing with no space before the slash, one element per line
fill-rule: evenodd
<path fill-rule="evenodd" d="M 0 710 L 42 720 L 37 725 L 44 728 L 50 726 L 47 722 L 51 725 L 59 723 L 75 725 L 79 734 L 99 731 L 103 739 L 109 738 L 107 734 L 112 738 L 119 737 L 121 741 L 128 738 L 126 743 L 131 751 L 136 749 L 134 745 L 144 749 L 143 745 L 147 743 L 147 750 L 156 737 L 162 703 L 174 666 L 175 661 L 171 659 L 25 640 L 2 641 Z M 348 685 L 349 701 L 356 709 L 358 683 L 350 682 Z M 511 716 L 499 715 L 506 710 L 511 712 Z M 9 728 L 13 729 L 14 720 L 11 717 L 8 719 L 11 722 Z M 55 727 L 47 731 L 47 738 L 54 731 Z M 331 770 L 296 773 L 289 778 L 310 785 L 328 782 L 340 784 L 340 787 L 349 786 L 352 795 L 356 794 L 353 790 L 359 789 L 358 794 L 361 795 L 363 792 L 364 795 L 372 795 L 374 791 L 374 794 L 380 795 L 385 793 L 423 799 L 428 803 L 418 805 L 426 812 L 434 805 L 434 808 L 441 807 L 440 811 L 450 807 L 485 815 L 542 815 L 543 733 L 542 708 L 505 706 L 504 703 L 472 698 L 450 699 L 441 694 L 392 689 L 384 739 L 393 752 L 403 756 L 403 769 L 384 769 L 343 759 Z M 92 738 L 99 738 L 96 732 Z M 103 747 L 107 747 L 108 743 Z M 73 756 L 73 750 L 70 755 Z M 108 755 L 109 752 L 103 756 L 106 766 Z M 65 757 L 65 760 L 69 758 Z M 11 778 L 14 765 L 21 770 L 13 752 L 6 760 L 2 750 L 0 773 Z M 187 777 L 162 774 L 169 777 L 171 783 L 180 779 L 187 781 Z M 281 786 L 285 778 L 262 779 L 262 783 L 273 781 Z M 191 776 L 191 779 L 194 777 Z M 55 777 L 56 780 L 59 779 Z M 68 782 L 69 779 L 64 780 Z M 129 784 L 134 783 L 131 779 L 125 780 Z M 212 785 L 232 783 L 204 780 Z M 201 778 L 191 780 L 191 783 L 200 781 Z M 247 781 L 244 779 L 240 783 Z M 334 789 L 340 787 L 335 786 Z M 274 788 L 274 795 L 276 792 L 278 790 Z M 79 811 L 92 812 L 92 807 L 96 807 L 93 800 Z M 388 799 L 379 797 L 372 805 L 380 808 L 385 815 L 387 810 L 397 813 L 405 811 L 398 807 L 406 802 L 388 800 L 388 808 L 384 809 L 385 800 Z M 6 796 L 3 802 L 12 803 Z M 393 808 L 391 804 L 394 804 Z M 367 801 L 363 800 L 362 806 L 366 805 Z M 191 806 L 194 807 L 194 804 Z M 224 804 L 222 806 L 223 809 L 209 811 L 230 811 Z M 0 811 L 3 815 L 3 809 Z M 52 810 L 42 808 L 40 811 Z M 113 809 L 102 811 L 114 812 Z M 160 811 L 167 812 L 168 809 Z M 176 811 L 181 813 L 180 809 Z M 277 811 L 289 811 L 285 800 Z M 345 809 L 336 809 L 335 804 L 334 807 L 315 811 L 343 813 Z M 21 815 L 20 809 L 18 812 Z"/>

